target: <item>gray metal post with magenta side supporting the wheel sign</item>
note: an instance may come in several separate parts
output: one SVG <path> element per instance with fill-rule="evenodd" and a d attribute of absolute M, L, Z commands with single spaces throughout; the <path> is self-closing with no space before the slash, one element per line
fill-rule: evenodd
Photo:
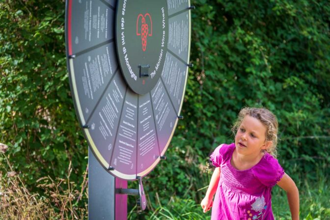
<path fill-rule="evenodd" d="M 117 185 L 117 187 L 116 187 Z M 127 188 L 127 181 L 110 175 L 88 148 L 88 219 L 126 220 L 127 195 L 116 194 L 115 188 Z"/>

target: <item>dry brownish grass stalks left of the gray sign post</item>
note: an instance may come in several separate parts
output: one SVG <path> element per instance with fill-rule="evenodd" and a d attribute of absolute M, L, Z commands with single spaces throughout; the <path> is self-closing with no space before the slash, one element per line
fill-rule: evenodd
<path fill-rule="evenodd" d="M 1 148 L 3 149 L 3 148 Z M 7 148 L 6 148 L 7 149 Z M 5 164 L 0 163 L 0 219 L 5 220 L 83 220 L 87 218 L 87 202 L 83 196 L 87 186 L 87 169 L 80 186 L 70 181 L 72 172 L 71 162 L 65 179 L 50 176 L 38 179 L 38 187 L 44 195 L 32 194 L 27 190 L 19 174 L 12 169 L 8 157 L 0 151 Z M 87 165 L 88 167 L 88 165 Z M 79 202 L 81 202 L 79 204 Z"/>

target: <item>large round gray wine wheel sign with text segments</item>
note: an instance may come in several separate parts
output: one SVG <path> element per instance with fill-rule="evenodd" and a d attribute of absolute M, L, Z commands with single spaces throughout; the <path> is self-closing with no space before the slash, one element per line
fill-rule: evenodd
<path fill-rule="evenodd" d="M 147 175 L 180 115 L 190 0 L 67 0 L 66 53 L 84 136 L 108 172 Z"/>

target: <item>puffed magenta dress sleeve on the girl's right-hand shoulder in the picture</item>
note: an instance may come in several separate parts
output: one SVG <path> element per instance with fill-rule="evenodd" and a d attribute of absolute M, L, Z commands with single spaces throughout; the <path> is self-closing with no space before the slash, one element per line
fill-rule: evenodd
<path fill-rule="evenodd" d="M 255 177 L 267 187 L 274 187 L 284 175 L 284 169 L 270 154 L 265 154 L 264 160 L 254 166 L 252 171 Z"/>

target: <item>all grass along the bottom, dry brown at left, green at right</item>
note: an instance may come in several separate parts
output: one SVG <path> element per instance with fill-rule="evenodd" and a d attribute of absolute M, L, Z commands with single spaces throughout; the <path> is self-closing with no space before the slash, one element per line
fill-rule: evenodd
<path fill-rule="evenodd" d="M 13 170 L 3 146 L 0 148 L 0 220 L 83 220 L 87 219 L 87 170 L 83 183 L 77 186 L 70 181 L 71 164 L 65 179 L 50 176 L 36 180 L 42 194 L 28 191 L 19 173 Z M 330 220 L 330 181 L 317 170 L 315 180 L 300 176 L 297 186 L 300 191 L 301 220 Z M 207 186 L 199 192 L 206 192 Z M 187 189 L 188 190 L 188 189 Z M 148 195 L 147 195 L 148 197 Z M 150 210 L 141 212 L 134 206 L 128 212 L 128 219 L 150 220 L 209 220 L 211 212 L 203 213 L 199 201 L 185 193 L 175 194 L 164 202 L 156 192 L 155 202 Z M 273 213 L 276 220 L 290 220 L 290 210 L 285 192 L 275 186 L 272 192 Z"/>

